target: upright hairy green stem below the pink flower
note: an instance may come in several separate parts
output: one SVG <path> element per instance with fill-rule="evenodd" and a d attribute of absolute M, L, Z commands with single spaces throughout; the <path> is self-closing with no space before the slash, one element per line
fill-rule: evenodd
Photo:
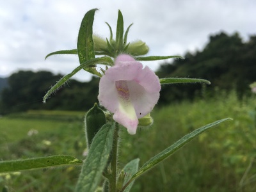
<path fill-rule="evenodd" d="M 117 148 L 118 148 L 119 125 L 116 123 L 111 161 L 111 175 L 109 177 L 109 192 L 116 192 L 116 166 L 117 166 Z"/>

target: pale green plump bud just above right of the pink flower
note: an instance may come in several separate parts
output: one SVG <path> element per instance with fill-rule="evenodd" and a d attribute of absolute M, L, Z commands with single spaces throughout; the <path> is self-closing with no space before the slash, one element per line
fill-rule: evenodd
<path fill-rule="evenodd" d="M 133 56 L 147 54 L 148 51 L 148 45 L 146 45 L 146 43 L 141 40 L 130 43 L 126 49 L 126 52 L 132 54 Z"/>

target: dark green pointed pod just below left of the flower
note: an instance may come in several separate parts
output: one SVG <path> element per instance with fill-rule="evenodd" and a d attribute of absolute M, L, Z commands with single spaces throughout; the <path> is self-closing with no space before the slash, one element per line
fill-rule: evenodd
<path fill-rule="evenodd" d="M 105 113 L 98 107 L 97 103 L 95 103 L 93 108 L 86 113 L 84 122 L 86 141 L 88 147 L 90 148 L 95 134 L 104 124 L 106 124 Z"/>

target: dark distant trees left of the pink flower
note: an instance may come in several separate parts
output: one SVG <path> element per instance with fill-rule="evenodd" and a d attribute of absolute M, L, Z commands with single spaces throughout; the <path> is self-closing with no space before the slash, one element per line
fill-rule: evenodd
<path fill-rule="evenodd" d="M 49 88 L 62 75 L 51 72 L 19 71 L 8 77 L 8 87 L 1 91 L 0 114 L 27 111 L 29 109 L 86 111 L 97 102 L 99 78 L 81 83 L 68 81 L 56 94 L 43 104 L 42 100 Z"/>

